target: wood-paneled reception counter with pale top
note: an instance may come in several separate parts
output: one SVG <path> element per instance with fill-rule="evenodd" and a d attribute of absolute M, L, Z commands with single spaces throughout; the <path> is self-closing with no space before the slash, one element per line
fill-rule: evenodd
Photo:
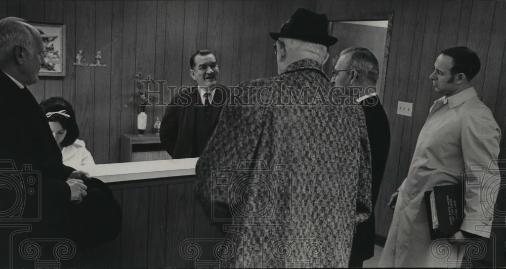
<path fill-rule="evenodd" d="M 62 267 L 194 268 L 214 265 L 212 249 L 202 248 L 197 259 L 185 259 L 185 240 L 220 240 L 215 226 L 195 200 L 198 158 L 98 164 L 78 167 L 106 182 L 123 212 L 118 237 L 94 250 L 78 249 Z M 203 264 L 202 260 L 205 261 Z M 209 263 L 210 262 L 210 263 Z"/>

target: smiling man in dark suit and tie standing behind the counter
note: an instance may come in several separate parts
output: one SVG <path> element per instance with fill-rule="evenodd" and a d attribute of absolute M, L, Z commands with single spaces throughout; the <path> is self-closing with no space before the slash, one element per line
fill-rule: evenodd
<path fill-rule="evenodd" d="M 200 156 L 226 101 L 226 87 L 218 84 L 220 69 L 213 53 L 195 52 L 190 57 L 190 76 L 197 86 L 182 87 L 160 124 L 160 141 L 173 159 Z"/>

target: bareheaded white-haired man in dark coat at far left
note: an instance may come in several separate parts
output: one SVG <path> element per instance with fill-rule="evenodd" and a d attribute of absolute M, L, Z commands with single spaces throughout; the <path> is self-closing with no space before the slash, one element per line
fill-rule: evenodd
<path fill-rule="evenodd" d="M 26 88 L 38 82 L 43 51 L 39 31 L 25 20 L 0 20 L 0 222 L 11 225 L 0 230 L 0 267 L 25 266 L 11 260 L 19 256 L 9 247 L 16 225 L 31 237 L 65 236 L 71 204 L 87 195 L 89 175 L 63 165 L 46 114 Z"/>

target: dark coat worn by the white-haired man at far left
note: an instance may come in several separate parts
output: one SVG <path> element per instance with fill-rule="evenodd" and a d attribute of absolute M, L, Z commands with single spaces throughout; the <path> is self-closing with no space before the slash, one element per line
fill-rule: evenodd
<path fill-rule="evenodd" d="M 61 151 L 52 135 L 45 113 L 40 109 L 28 89 L 20 89 L 4 72 L 0 71 L 0 173 L 23 176 L 31 171 L 40 172 L 32 185 L 26 180 L 22 184 L 34 187 L 34 194 L 41 202 L 28 194 L 21 204 L 23 213 L 7 216 L 13 223 L 32 225 L 32 237 L 62 237 L 63 226 L 70 208 L 70 188 L 66 180 L 74 168 L 63 165 Z M 15 170 L 11 161 L 14 161 Z M 28 166 L 31 166 L 29 168 Z M 11 167 L 9 167 L 11 166 Z M 36 173 L 36 172 L 35 172 Z M 11 184 L 12 180 L 8 184 Z M 40 186 L 40 191 L 39 187 Z M 9 208 L 8 201 L 18 196 L 14 192 L 4 193 L 2 208 Z M 7 202 L 7 203 L 6 203 Z M 41 208 L 41 214 L 37 213 Z M 40 221 L 22 221 L 40 215 Z M 17 218 L 17 219 L 16 219 Z M 5 223 L 5 222 L 4 222 Z M 2 232 L 0 232 L 2 233 Z M 7 253 L 6 253 L 7 254 Z"/>

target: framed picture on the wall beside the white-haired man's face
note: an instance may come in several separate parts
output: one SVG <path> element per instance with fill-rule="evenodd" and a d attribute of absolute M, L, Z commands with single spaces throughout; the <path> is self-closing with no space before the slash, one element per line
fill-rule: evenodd
<path fill-rule="evenodd" d="M 39 30 L 44 42 L 44 62 L 39 76 L 65 76 L 65 24 L 29 22 Z"/>

